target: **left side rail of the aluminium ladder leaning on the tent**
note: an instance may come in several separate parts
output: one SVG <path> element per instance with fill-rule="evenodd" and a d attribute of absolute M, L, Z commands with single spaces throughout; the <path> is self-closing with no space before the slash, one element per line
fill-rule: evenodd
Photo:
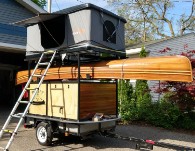
<path fill-rule="evenodd" d="M 41 57 L 40 57 L 38 63 L 41 62 L 43 56 L 44 56 L 44 53 L 42 53 L 42 55 L 41 55 Z M 32 75 L 35 74 L 35 72 L 36 72 L 36 70 L 37 70 L 37 68 L 38 68 L 38 63 L 37 63 L 37 65 L 36 65 L 35 69 L 33 70 Z M 18 98 L 16 104 L 14 105 L 14 107 L 13 107 L 13 109 L 12 109 L 10 115 L 8 116 L 8 118 L 7 118 L 6 122 L 5 122 L 5 124 L 3 125 L 3 128 L 2 128 L 1 131 L 0 131 L 0 139 L 1 139 L 2 136 L 3 136 L 4 130 L 5 130 L 6 127 L 8 126 L 9 122 L 11 121 L 11 118 L 12 118 L 11 115 L 13 115 L 13 114 L 15 113 L 17 107 L 18 107 L 19 104 L 20 104 L 19 101 L 22 100 L 22 98 L 23 98 L 23 96 L 24 96 L 24 93 L 26 92 L 26 89 L 28 88 L 29 84 L 31 83 L 31 80 L 32 80 L 32 77 L 33 77 L 32 75 L 30 76 L 30 78 L 29 78 L 28 82 L 26 83 L 24 89 L 22 90 L 22 93 L 20 94 L 20 96 L 19 96 L 19 98 Z"/>

